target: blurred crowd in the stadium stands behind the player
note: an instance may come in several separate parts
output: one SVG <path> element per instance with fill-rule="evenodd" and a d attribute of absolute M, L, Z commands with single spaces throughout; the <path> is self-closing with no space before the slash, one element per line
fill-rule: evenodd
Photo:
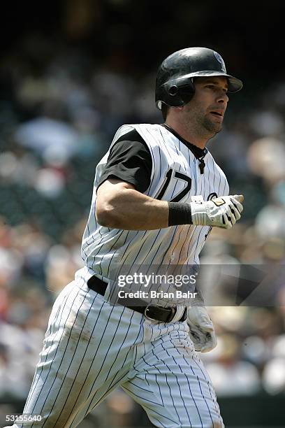
<path fill-rule="evenodd" d="M 96 163 L 121 124 L 162 122 L 156 69 L 142 76 L 121 62 L 97 64 L 87 52 L 27 38 L 1 71 L 2 398 L 27 397 L 52 303 L 82 266 Z M 285 81 L 268 83 L 254 99 L 246 88 L 231 97 L 224 129 L 208 147 L 231 194 L 244 194 L 244 216 L 233 231 L 213 230 L 203 257 L 284 264 Z M 202 358 L 218 396 L 285 391 L 284 308 L 282 288 L 274 306 L 210 308 L 218 345 Z M 132 411 L 129 398 L 114 394 L 110 408 Z"/>

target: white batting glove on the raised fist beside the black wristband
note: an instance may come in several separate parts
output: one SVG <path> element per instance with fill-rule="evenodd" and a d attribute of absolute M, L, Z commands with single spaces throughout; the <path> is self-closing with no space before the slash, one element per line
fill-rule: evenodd
<path fill-rule="evenodd" d="M 192 197 L 192 223 L 201 226 L 217 226 L 231 229 L 240 220 L 243 201 L 242 194 L 223 196 L 211 201 L 203 201 L 203 197 Z"/>

